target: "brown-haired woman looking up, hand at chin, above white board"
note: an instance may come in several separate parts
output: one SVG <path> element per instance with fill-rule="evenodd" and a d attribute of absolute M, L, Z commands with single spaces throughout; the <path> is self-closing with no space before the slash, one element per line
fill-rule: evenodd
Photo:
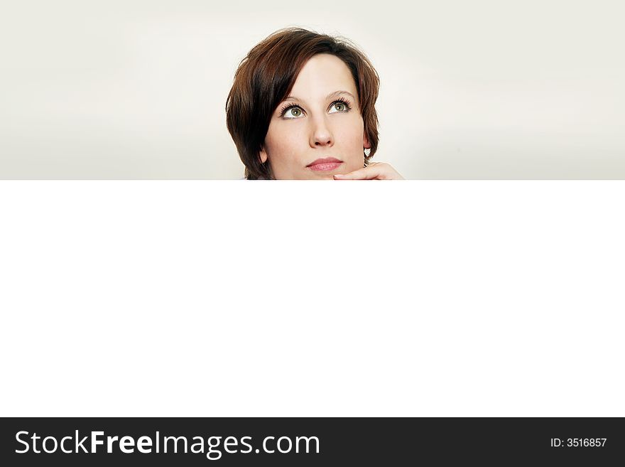
<path fill-rule="evenodd" d="M 370 163 L 379 77 L 345 40 L 287 28 L 252 48 L 234 75 L 227 126 L 254 179 L 402 178 Z"/>

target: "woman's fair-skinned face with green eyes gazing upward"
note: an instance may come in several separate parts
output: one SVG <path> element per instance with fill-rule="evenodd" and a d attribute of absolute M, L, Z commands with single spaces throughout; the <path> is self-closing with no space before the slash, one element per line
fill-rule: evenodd
<path fill-rule="evenodd" d="M 352 73 L 340 58 L 320 53 L 273 112 L 260 156 L 273 178 L 331 179 L 362 168 L 368 147 Z"/>

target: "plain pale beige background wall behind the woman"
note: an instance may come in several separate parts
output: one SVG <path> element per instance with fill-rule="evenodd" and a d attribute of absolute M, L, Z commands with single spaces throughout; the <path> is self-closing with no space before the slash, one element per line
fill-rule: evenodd
<path fill-rule="evenodd" d="M 0 178 L 241 178 L 224 103 L 285 26 L 366 51 L 406 178 L 625 178 L 619 1 L 406 3 L 4 2 Z"/>

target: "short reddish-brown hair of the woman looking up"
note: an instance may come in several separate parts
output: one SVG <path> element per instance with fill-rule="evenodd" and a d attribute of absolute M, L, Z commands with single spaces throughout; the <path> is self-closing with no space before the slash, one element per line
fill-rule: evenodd
<path fill-rule="evenodd" d="M 271 178 L 269 161 L 262 163 L 259 156 L 271 115 L 288 96 L 305 63 L 318 53 L 337 56 L 352 72 L 364 131 L 371 144 L 365 163 L 375 154 L 379 139 L 375 103 L 380 79 L 369 58 L 345 38 L 286 28 L 268 36 L 241 60 L 226 101 L 228 131 L 245 165 L 246 178 Z"/>

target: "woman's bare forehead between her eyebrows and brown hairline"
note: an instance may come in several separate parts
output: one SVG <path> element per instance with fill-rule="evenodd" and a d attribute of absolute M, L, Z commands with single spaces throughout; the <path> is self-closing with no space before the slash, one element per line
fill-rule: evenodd
<path fill-rule="evenodd" d="M 320 53 L 305 63 L 295 80 L 291 95 L 320 98 L 337 90 L 349 91 L 357 96 L 352 72 L 335 55 Z"/>

